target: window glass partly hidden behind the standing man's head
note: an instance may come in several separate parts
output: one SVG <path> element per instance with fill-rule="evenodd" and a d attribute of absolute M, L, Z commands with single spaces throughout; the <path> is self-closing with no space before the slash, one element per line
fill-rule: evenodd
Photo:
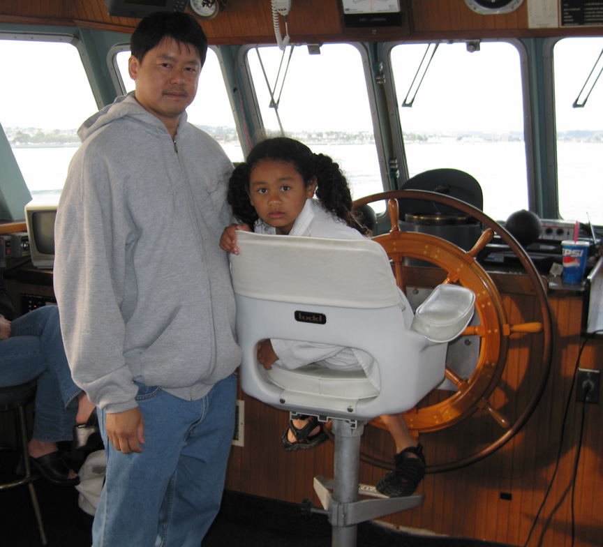
<path fill-rule="evenodd" d="M 128 75 L 129 57 L 128 50 L 119 52 L 115 59 L 126 91 L 133 91 L 135 82 Z M 220 63 L 214 50 L 207 50 L 207 57 L 199 77 L 197 96 L 186 109 L 186 113 L 188 121 L 209 133 L 222 145 L 230 160 L 244 159 Z"/>

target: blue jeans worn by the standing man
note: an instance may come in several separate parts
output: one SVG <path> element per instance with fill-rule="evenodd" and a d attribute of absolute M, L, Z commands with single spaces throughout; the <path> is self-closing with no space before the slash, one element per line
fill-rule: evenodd
<path fill-rule="evenodd" d="M 199 547 L 220 508 L 236 394 L 234 374 L 199 400 L 140 385 L 145 443 L 133 454 L 114 449 L 99 411 L 107 477 L 93 547 Z"/>

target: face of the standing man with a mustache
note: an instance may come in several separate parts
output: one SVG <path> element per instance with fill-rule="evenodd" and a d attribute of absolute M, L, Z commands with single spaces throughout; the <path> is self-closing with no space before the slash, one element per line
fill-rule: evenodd
<path fill-rule="evenodd" d="M 163 121 L 174 136 L 180 114 L 197 93 L 201 57 L 196 48 L 166 37 L 142 61 L 130 57 L 128 68 L 136 82 L 138 103 Z"/>

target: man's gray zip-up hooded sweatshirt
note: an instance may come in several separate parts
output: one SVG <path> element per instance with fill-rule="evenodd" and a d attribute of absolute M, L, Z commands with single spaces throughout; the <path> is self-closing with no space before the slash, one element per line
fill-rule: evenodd
<path fill-rule="evenodd" d="M 73 380 L 107 412 L 137 406 L 134 381 L 199 399 L 241 358 L 219 248 L 232 163 L 186 113 L 172 140 L 133 95 L 78 135 L 54 264 Z"/>

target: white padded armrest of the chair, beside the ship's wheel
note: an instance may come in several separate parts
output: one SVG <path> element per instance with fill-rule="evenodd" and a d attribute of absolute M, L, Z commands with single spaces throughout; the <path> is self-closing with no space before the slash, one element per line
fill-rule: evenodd
<path fill-rule="evenodd" d="M 475 294 L 459 285 L 438 285 L 415 312 L 413 331 L 435 343 L 454 340 L 473 315 Z"/>

